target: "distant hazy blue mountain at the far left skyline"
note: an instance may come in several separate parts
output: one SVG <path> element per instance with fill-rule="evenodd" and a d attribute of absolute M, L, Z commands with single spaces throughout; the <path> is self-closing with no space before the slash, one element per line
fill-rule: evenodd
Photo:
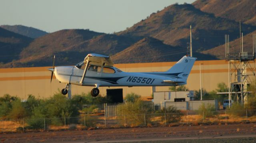
<path fill-rule="evenodd" d="M 47 34 L 46 31 L 42 31 L 33 27 L 27 27 L 23 25 L 1 25 L 0 27 L 8 31 L 12 31 L 14 33 L 18 33 L 20 35 L 24 35 L 34 39 Z"/>

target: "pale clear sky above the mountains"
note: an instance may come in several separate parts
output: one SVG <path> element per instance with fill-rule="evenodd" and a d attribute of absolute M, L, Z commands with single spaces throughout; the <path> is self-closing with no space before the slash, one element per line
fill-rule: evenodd
<path fill-rule="evenodd" d="M 171 4 L 195 0 L 0 0 L 0 25 L 46 32 L 90 29 L 114 33 Z"/>

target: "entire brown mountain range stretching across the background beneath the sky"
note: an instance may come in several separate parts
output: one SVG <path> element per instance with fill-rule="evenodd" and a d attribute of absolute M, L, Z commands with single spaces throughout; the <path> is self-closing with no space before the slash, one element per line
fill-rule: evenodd
<path fill-rule="evenodd" d="M 1 28 L 0 67 L 50 66 L 53 55 L 56 65 L 74 65 L 88 53 L 111 55 L 116 63 L 177 61 L 189 53 L 190 25 L 193 56 L 223 59 L 225 34 L 230 35 L 230 46 L 240 45 L 240 18 L 244 49 L 250 49 L 254 11 L 254 0 L 197 0 L 168 6 L 115 34 L 64 29 L 31 39 Z"/>

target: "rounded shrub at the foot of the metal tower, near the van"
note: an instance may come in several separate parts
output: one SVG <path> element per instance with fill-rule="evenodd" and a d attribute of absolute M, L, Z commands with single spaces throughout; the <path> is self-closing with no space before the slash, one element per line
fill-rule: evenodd
<path fill-rule="evenodd" d="M 241 105 L 238 102 L 232 104 L 227 112 L 233 116 L 246 116 L 246 109 L 244 108 L 244 105 Z"/>

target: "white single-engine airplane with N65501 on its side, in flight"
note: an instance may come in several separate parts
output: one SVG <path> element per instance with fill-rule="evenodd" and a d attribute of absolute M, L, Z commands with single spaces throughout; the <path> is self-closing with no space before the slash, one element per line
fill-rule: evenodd
<path fill-rule="evenodd" d="M 165 72 L 123 72 L 116 67 L 109 56 L 88 54 L 84 61 L 75 66 L 54 67 L 49 71 L 56 79 L 66 83 L 61 90 L 63 95 L 68 93 L 70 84 L 80 86 L 95 86 L 91 90 L 93 97 L 98 96 L 99 86 L 179 86 L 187 83 L 188 75 L 197 58 L 184 56 L 172 68 Z M 52 76 L 51 76 L 52 82 Z"/>

